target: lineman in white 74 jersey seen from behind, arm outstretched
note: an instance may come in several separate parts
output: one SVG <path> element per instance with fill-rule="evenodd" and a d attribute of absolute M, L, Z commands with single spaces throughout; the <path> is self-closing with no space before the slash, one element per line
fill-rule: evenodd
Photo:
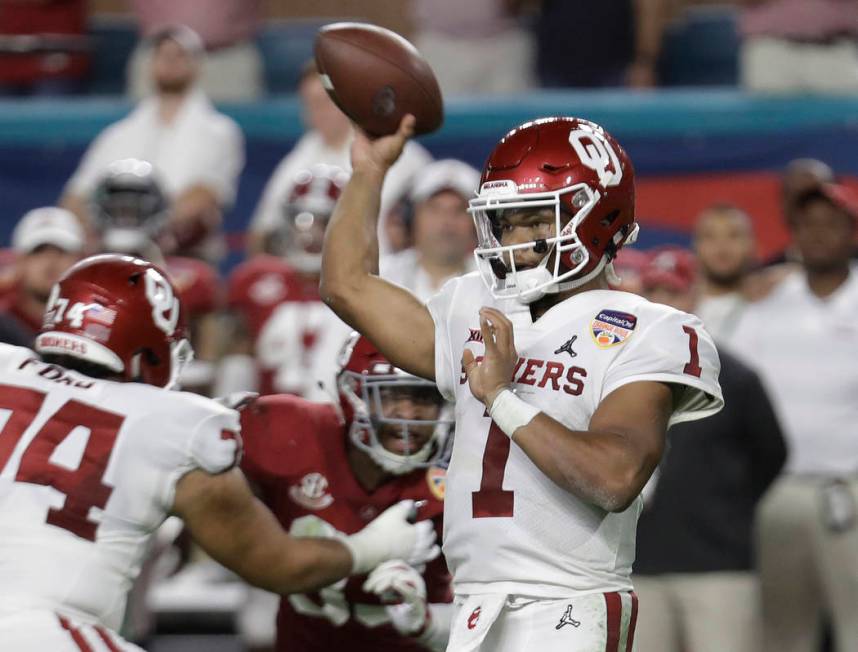
<path fill-rule="evenodd" d="M 106 255 L 54 287 L 38 353 L 0 345 L 3 649 L 138 650 L 115 630 L 171 513 L 214 559 L 280 593 L 432 558 L 433 525 L 409 524 L 407 502 L 339 541 L 284 532 L 236 468 L 238 414 L 167 391 L 186 334 L 164 272 Z"/>

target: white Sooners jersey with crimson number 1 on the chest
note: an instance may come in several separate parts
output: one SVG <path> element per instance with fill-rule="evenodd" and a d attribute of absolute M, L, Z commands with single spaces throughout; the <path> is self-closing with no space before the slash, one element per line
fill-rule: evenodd
<path fill-rule="evenodd" d="M 484 353 L 478 310 L 513 323 L 517 394 L 572 430 L 586 430 L 615 389 L 650 380 L 684 385 L 670 423 L 717 412 L 720 362 L 700 320 L 637 295 L 594 290 L 535 323 L 528 306 L 494 299 L 476 273 L 429 301 L 435 375 L 456 402 L 444 501 L 444 555 L 457 594 L 566 597 L 631 588 L 641 499 L 607 513 L 555 485 L 493 424 L 471 394 L 462 351 Z"/>

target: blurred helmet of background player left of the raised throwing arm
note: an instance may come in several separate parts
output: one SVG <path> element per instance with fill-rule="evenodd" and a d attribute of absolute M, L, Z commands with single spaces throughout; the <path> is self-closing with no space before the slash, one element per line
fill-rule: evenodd
<path fill-rule="evenodd" d="M 314 273 L 322 268 L 325 229 L 348 178 L 345 170 L 323 164 L 295 175 L 282 206 L 275 248 L 300 271 Z"/>

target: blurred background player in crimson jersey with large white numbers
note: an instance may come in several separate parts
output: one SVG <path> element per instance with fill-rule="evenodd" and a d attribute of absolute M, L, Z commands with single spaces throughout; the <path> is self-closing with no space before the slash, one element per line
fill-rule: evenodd
<path fill-rule="evenodd" d="M 224 376 L 255 378 L 244 386 L 221 386 L 219 393 L 256 389 L 329 398 L 320 383 L 333 384 L 336 352 L 351 329 L 321 302 L 319 270 L 325 227 L 347 176 L 327 165 L 299 172 L 283 202 L 281 227 L 266 243 L 270 253 L 233 272 L 229 305 L 244 339 L 234 352 L 252 353 L 253 362 L 233 359 L 245 369 L 225 368 Z"/>

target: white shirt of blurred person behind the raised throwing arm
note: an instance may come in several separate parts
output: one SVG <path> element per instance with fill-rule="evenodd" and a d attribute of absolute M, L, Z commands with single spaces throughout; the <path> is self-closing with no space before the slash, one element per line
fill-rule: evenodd
<path fill-rule="evenodd" d="M 292 151 L 280 161 L 271 178 L 268 179 L 268 183 L 265 184 L 262 199 L 259 200 L 250 221 L 251 231 L 269 233 L 280 226 L 283 220 L 283 204 L 295 182 L 295 176 L 301 170 L 323 163 L 351 172 L 351 145 L 351 139 L 349 139 L 342 147 L 329 147 L 318 132 L 309 131 L 304 134 Z M 414 175 L 431 162 L 432 155 L 422 145 L 409 141 L 405 145 L 402 156 L 387 173 L 381 194 L 381 218 L 379 219 L 381 253 L 387 253 L 390 250 L 382 226 L 388 211 L 406 193 Z"/>

